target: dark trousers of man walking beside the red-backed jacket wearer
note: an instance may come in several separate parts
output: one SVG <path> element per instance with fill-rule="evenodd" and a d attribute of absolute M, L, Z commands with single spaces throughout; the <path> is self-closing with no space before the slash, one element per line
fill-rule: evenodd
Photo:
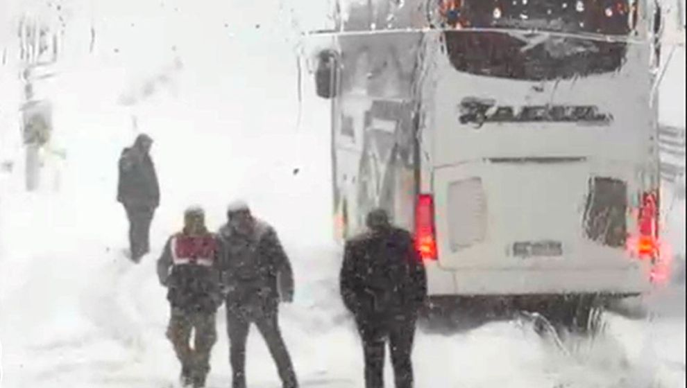
<path fill-rule="evenodd" d="M 237 306 L 227 303 L 227 333 L 229 336 L 232 387 L 246 388 L 246 340 L 251 323 L 267 343 L 277 365 L 284 388 L 296 388 L 298 382 L 289 351 L 279 330 L 277 306 Z"/>

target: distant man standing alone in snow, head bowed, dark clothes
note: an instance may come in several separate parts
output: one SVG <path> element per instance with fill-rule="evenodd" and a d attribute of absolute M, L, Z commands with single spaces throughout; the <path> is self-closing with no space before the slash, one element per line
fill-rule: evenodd
<path fill-rule="evenodd" d="M 117 201 L 124 205 L 129 219 L 131 259 L 138 263 L 150 251 L 149 232 L 153 213 L 160 204 L 160 186 L 150 157 L 153 140 L 139 134 L 119 157 Z"/>

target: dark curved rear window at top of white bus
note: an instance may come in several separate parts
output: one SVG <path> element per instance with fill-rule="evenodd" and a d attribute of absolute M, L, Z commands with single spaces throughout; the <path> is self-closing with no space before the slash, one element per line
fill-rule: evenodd
<path fill-rule="evenodd" d="M 458 71 L 525 80 L 616 71 L 636 14 L 635 0 L 439 0 Z"/>

